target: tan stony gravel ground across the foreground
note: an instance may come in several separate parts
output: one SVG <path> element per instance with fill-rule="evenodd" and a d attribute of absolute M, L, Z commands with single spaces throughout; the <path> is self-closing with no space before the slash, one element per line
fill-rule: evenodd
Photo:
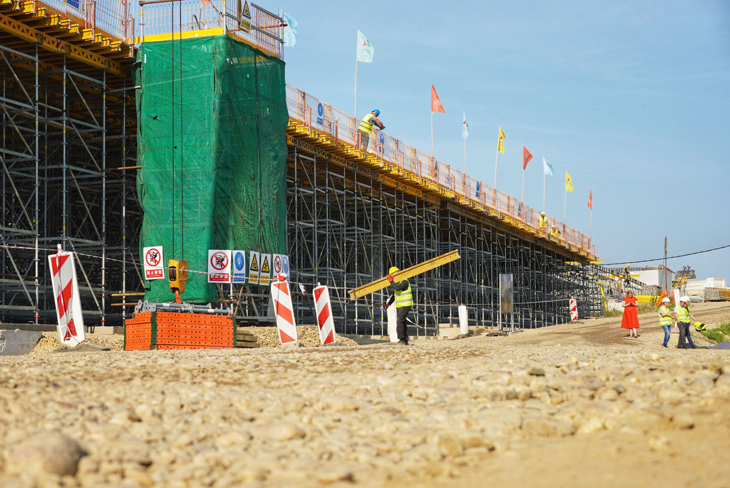
<path fill-rule="evenodd" d="M 0 357 L 0 487 L 728 486 L 728 351 L 640 320 Z"/>

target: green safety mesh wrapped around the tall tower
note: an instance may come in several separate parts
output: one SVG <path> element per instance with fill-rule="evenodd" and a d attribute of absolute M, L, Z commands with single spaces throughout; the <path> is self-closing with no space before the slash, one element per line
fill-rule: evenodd
<path fill-rule="evenodd" d="M 284 62 L 225 35 L 145 42 L 137 61 L 140 255 L 162 245 L 206 272 L 209 249 L 285 253 Z M 145 291 L 172 300 L 166 279 Z M 218 294 L 191 272 L 183 300 Z"/>

